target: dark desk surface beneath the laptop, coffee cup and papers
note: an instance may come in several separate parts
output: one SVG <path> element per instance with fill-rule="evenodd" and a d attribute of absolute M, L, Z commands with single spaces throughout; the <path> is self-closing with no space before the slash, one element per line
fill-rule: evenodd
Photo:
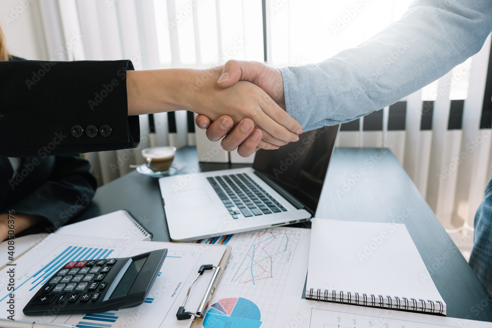
<path fill-rule="evenodd" d="M 247 166 L 199 165 L 193 147 L 180 149 L 175 161 L 188 163 L 183 174 Z M 144 222 L 154 240 L 170 240 L 157 179 L 136 172 L 99 188 L 78 220 L 123 208 Z M 405 223 L 448 316 L 492 322 L 491 297 L 389 150 L 335 149 L 316 216 Z"/>

